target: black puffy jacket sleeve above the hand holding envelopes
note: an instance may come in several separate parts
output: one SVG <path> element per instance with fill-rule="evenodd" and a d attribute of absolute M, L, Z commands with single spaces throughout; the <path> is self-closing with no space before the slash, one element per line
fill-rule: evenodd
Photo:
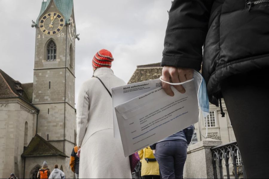
<path fill-rule="evenodd" d="M 174 0 L 164 38 L 161 66 L 201 69 L 202 46 L 213 0 Z"/>

